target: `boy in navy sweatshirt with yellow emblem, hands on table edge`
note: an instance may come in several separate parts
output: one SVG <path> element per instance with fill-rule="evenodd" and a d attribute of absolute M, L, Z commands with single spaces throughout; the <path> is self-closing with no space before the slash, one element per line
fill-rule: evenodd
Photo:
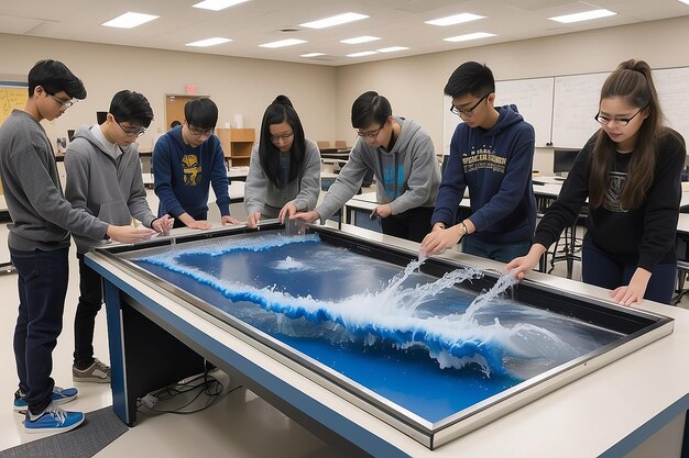
<path fill-rule="evenodd" d="M 212 186 L 220 209 L 220 223 L 239 224 L 230 216 L 230 193 L 225 154 L 214 130 L 218 107 L 208 98 L 184 105 L 184 123 L 167 131 L 153 147 L 151 168 L 158 216 L 175 219 L 175 227 L 207 230 L 208 192 Z"/>

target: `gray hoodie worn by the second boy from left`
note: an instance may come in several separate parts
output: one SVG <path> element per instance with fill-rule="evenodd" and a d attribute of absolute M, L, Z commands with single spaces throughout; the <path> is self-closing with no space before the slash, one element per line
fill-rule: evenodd
<path fill-rule="evenodd" d="M 96 126 L 100 129 L 100 126 Z M 105 137 L 102 138 L 105 141 Z M 116 226 L 128 225 L 132 216 L 151 227 L 155 215 L 146 202 L 136 144 L 107 150 L 91 127 L 81 125 L 65 154 L 65 197 L 75 209 Z M 86 253 L 102 239 L 73 234 L 78 253 Z"/>

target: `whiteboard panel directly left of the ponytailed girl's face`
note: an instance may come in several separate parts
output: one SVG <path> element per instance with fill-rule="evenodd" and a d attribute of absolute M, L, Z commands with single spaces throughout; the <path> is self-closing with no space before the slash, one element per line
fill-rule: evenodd
<path fill-rule="evenodd" d="M 610 72 L 555 77 L 553 145 L 581 148 L 600 129 L 598 113 L 601 87 Z"/>

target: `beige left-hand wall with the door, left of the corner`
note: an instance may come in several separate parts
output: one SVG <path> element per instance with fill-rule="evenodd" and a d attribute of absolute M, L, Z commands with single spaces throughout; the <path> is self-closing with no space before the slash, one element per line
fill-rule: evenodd
<path fill-rule="evenodd" d="M 155 119 L 140 138 L 152 147 L 157 131 L 165 132 L 165 93 L 184 93 L 187 83 L 210 96 L 219 108 L 218 125 L 243 114 L 244 127 L 261 126 L 263 111 L 278 93 L 292 99 L 307 137 L 335 139 L 336 68 L 271 60 L 222 57 L 0 34 L 0 79 L 25 81 L 42 58 L 64 62 L 86 86 L 88 97 L 54 122 L 44 123 L 52 139 L 67 129 L 96 122 L 96 111 L 107 111 L 112 96 L 131 89 L 146 96 Z"/>

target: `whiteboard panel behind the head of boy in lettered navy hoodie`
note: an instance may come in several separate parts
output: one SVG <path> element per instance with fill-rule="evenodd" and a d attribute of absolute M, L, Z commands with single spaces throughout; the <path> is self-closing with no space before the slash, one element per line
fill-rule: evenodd
<path fill-rule="evenodd" d="M 536 146 L 550 143 L 550 124 L 553 119 L 553 77 L 512 79 L 495 81 L 495 107 L 515 104 L 524 120 L 534 126 Z M 442 153 L 450 153 L 450 141 L 461 119 L 450 112 L 452 98 L 445 96 Z"/>

